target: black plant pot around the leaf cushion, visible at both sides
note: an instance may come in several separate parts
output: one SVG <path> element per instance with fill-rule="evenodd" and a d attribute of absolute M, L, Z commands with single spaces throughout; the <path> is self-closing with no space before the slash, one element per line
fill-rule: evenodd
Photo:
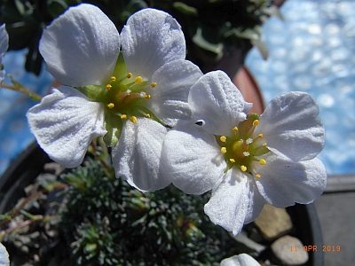
<path fill-rule="evenodd" d="M 33 183 L 43 172 L 43 165 L 51 161 L 35 142 L 12 162 L 4 175 L 0 177 L 0 214 L 11 210 L 21 197 L 26 196 L 24 188 Z M 291 234 L 300 239 L 304 246 L 317 246 L 319 250 L 309 252 L 310 259 L 304 265 L 323 265 L 323 253 L 321 252 L 323 243 L 315 207 L 313 204 L 296 204 L 287 207 L 287 211 L 295 227 Z"/>

